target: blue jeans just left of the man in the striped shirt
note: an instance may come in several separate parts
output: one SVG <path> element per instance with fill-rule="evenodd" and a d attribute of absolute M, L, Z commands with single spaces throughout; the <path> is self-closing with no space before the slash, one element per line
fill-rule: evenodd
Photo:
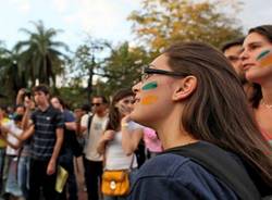
<path fill-rule="evenodd" d="M 21 157 L 17 167 L 18 187 L 23 191 L 24 198 L 27 199 L 29 190 L 30 157 Z"/>

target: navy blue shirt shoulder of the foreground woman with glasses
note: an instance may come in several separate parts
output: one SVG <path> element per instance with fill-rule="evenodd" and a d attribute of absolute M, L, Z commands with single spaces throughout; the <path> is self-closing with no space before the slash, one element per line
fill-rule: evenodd
<path fill-rule="evenodd" d="M 160 154 L 132 177 L 128 200 L 237 200 L 224 183 L 188 158 Z"/>

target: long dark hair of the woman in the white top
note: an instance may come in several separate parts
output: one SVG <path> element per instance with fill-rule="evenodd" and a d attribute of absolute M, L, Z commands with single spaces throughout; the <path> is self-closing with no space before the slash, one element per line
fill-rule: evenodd
<path fill-rule="evenodd" d="M 129 96 L 134 96 L 132 89 L 121 89 L 113 96 L 109 111 L 109 123 L 107 125 L 107 129 L 113 129 L 113 130 L 120 129 L 121 113 L 119 112 L 119 109 L 115 107 L 115 104 L 121 99 L 124 99 Z"/>

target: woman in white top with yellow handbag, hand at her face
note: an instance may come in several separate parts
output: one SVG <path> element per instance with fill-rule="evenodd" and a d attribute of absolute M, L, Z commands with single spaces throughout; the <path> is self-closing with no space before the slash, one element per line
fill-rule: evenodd
<path fill-rule="evenodd" d="M 129 118 L 134 93 L 131 89 L 119 90 L 109 110 L 109 123 L 98 143 L 98 152 L 104 154 L 104 170 L 129 171 L 137 167 L 134 151 L 143 137 L 143 127 Z M 104 200 L 124 199 L 124 196 L 104 196 Z"/>

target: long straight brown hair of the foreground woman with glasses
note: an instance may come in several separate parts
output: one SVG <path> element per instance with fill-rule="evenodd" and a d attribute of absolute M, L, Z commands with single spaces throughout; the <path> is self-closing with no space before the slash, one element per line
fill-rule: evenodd
<path fill-rule="evenodd" d="M 225 57 L 200 42 L 165 50 L 174 72 L 197 78 L 181 124 L 193 137 L 238 154 L 272 187 L 272 148 L 258 129 L 238 76 Z M 226 166 L 227 167 L 227 166 Z"/>

